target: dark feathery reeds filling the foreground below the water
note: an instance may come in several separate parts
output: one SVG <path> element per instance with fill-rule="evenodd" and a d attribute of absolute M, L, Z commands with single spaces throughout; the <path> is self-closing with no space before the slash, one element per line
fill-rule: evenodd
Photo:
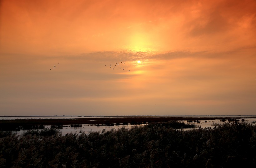
<path fill-rule="evenodd" d="M 0 138 L 5 167 L 255 167 L 256 126 L 223 123 L 175 129 L 181 122 L 152 122 L 131 129 L 60 132 Z M 43 129 L 44 130 L 44 129 Z M 46 130 L 50 131 L 51 129 Z M 52 128 L 52 130 L 57 130 Z"/>

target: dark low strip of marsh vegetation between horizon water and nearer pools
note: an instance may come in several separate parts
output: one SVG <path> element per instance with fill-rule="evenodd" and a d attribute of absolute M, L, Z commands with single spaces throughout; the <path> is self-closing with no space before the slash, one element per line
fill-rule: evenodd
<path fill-rule="evenodd" d="M 62 128 L 63 125 L 78 125 L 81 124 L 98 124 L 113 126 L 115 125 L 140 125 L 150 122 L 168 122 L 168 121 L 186 121 L 200 122 L 199 120 L 209 120 L 209 117 L 110 117 L 110 118 L 62 118 L 62 119 L 16 119 L 16 120 L 0 120 L 0 130 L 2 131 L 19 131 L 31 129 L 43 129 L 45 125 L 51 125 L 52 128 Z M 224 117 L 216 117 L 214 119 L 229 119 Z M 234 118 L 233 118 L 234 119 Z M 243 119 L 241 120 L 243 121 Z"/>

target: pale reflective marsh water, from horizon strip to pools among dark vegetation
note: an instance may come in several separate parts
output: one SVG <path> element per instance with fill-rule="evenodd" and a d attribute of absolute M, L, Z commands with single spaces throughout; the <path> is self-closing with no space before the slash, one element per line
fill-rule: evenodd
<path fill-rule="evenodd" d="M 62 118 L 111 118 L 111 117 L 120 117 L 120 118 L 125 118 L 125 117 L 131 117 L 131 116 L 1 116 L 0 120 L 10 120 L 10 119 L 62 119 Z M 132 117 L 163 117 L 163 116 L 132 116 Z M 250 123 L 250 124 L 255 124 L 256 123 L 256 117 L 255 116 L 164 116 L 164 117 L 198 117 L 198 118 L 204 118 L 204 117 L 209 117 L 209 118 L 213 118 L 212 120 L 199 120 L 200 122 L 187 122 L 187 120 L 185 120 L 185 123 L 188 124 L 195 124 L 196 127 L 201 126 L 202 128 L 205 127 L 214 127 L 214 123 L 216 124 L 223 124 L 225 122 L 234 122 L 234 121 L 221 121 L 220 119 L 214 119 L 216 117 L 225 117 L 225 118 L 243 118 L 245 119 L 244 122 L 246 123 Z M 243 123 L 242 121 L 239 121 L 239 123 Z M 145 124 L 141 124 L 138 126 L 142 126 Z M 89 133 L 91 131 L 94 132 L 102 132 L 103 129 L 106 129 L 106 131 L 111 130 L 112 128 L 118 130 L 121 127 L 125 127 L 125 128 L 132 128 L 135 125 L 114 125 L 114 126 L 96 126 L 96 124 L 82 124 L 82 127 L 70 127 L 70 125 L 63 125 L 63 128 L 59 129 L 62 133 L 62 135 L 65 135 L 67 133 L 79 133 L 80 131 L 84 131 L 85 133 Z M 45 128 L 50 128 L 50 125 L 45 125 Z M 184 130 L 190 130 L 191 128 L 187 128 Z M 25 132 L 26 130 L 20 130 L 17 131 L 17 135 L 21 135 L 23 132 Z"/>

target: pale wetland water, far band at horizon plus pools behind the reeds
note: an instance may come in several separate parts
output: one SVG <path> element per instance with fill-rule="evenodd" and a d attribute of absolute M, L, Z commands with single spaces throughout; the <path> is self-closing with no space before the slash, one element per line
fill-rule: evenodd
<path fill-rule="evenodd" d="M 1 120 L 16 120 L 16 119 L 83 119 L 83 118 L 160 118 L 163 116 L 4 116 L 4 117 L 0 117 L 0 121 Z M 179 122 L 184 122 L 185 124 L 194 124 L 196 125 L 196 127 L 201 126 L 202 128 L 205 127 L 214 127 L 214 124 L 223 124 L 223 123 L 227 123 L 227 122 L 234 122 L 234 121 L 228 121 L 227 118 L 231 119 L 231 118 L 235 118 L 238 120 L 239 123 L 250 123 L 250 124 L 255 124 L 256 122 L 256 116 L 164 116 L 166 118 L 179 118 L 176 119 L 175 121 L 179 121 Z M 198 120 L 198 122 L 194 122 L 196 120 L 194 120 L 194 118 L 196 118 L 196 120 Z M 205 119 L 207 118 L 207 119 Z M 218 119 L 216 119 L 218 118 Z M 225 118 L 225 121 L 223 121 L 223 119 L 220 118 Z M 188 122 L 188 120 L 191 120 L 193 122 Z M 243 121 L 242 121 L 243 120 Z M 94 121 L 94 119 L 92 119 L 91 121 Z M 116 124 L 116 123 L 114 123 Z M 113 125 L 113 126 L 107 126 L 107 125 L 101 125 L 97 126 L 96 123 L 95 124 L 81 124 L 81 127 L 71 127 L 70 124 L 68 125 L 63 125 L 62 128 L 60 128 L 59 130 L 61 131 L 62 135 L 65 135 L 66 133 L 79 133 L 80 131 L 84 131 L 85 133 L 89 133 L 90 131 L 94 131 L 94 132 L 102 132 L 104 129 L 105 131 L 109 131 L 112 128 L 113 129 L 119 129 L 121 127 L 126 127 L 126 128 L 132 128 L 135 125 L 137 126 L 143 126 L 145 124 L 130 124 L 128 123 L 127 125 Z M 50 128 L 50 125 L 44 125 L 45 128 Z M 191 128 L 186 128 L 184 130 L 190 130 Z M 26 130 L 20 130 L 17 131 L 17 135 L 22 134 L 23 132 L 25 132 Z"/>

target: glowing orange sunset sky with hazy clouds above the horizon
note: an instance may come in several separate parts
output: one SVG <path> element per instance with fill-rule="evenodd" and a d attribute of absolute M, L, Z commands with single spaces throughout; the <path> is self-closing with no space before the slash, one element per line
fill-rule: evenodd
<path fill-rule="evenodd" d="M 0 116 L 256 115 L 255 9 L 0 0 Z"/>

